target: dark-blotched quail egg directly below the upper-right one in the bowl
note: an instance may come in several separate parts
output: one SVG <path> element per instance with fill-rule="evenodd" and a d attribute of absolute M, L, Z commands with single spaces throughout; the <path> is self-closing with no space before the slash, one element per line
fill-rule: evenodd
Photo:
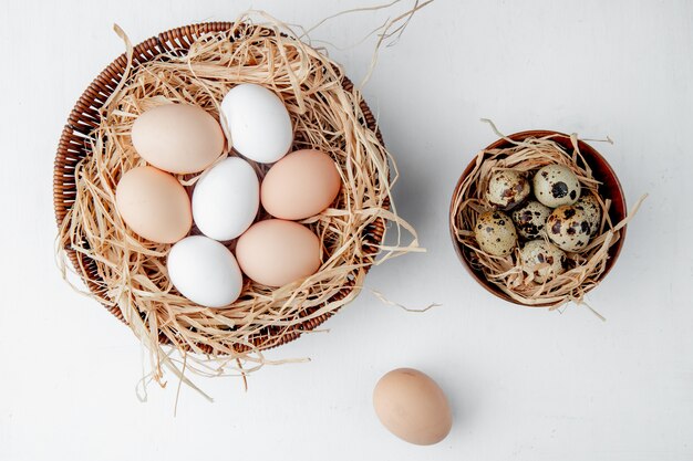
<path fill-rule="evenodd" d="M 546 233 L 561 250 L 580 252 L 590 241 L 590 223 L 585 211 L 565 205 L 549 214 Z"/>

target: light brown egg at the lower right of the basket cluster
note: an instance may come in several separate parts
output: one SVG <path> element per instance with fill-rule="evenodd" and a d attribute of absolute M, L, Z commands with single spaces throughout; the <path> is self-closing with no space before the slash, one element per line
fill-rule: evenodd
<path fill-rule="evenodd" d="M 268 286 L 283 286 L 320 268 L 320 241 L 304 226 L 281 219 L 256 222 L 236 244 L 240 270 Z"/>

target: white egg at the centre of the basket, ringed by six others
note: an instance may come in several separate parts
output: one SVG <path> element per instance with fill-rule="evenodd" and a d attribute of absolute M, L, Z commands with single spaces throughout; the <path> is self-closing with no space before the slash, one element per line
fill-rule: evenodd
<path fill-rule="evenodd" d="M 229 157 L 206 171 L 193 191 L 193 218 L 205 235 L 231 240 L 252 224 L 260 206 L 260 182 L 246 160 Z"/>

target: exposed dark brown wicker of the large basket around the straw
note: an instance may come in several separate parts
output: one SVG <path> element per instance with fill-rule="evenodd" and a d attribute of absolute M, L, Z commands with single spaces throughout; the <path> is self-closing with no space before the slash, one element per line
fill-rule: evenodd
<path fill-rule="evenodd" d="M 230 22 L 210 22 L 186 25 L 163 32 L 156 36 L 145 40 L 134 48 L 133 66 L 137 66 L 142 63 L 148 62 L 158 56 L 162 52 L 185 54 L 190 44 L 201 34 L 209 32 L 229 31 L 231 30 L 232 25 L 234 23 Z M 230 40 L 232 40 L 232 38 Z M 84 91 L 82 96 L 74 105 L 74 108 L 70 113 L 68 123 L 62 132 L 62 136 L 58 146 L 53 175 L 53 202 L 55 209 L 55 219 L 59 227 L 61 226 L 63 219 L 65 218 L 65 214 L 70 210 L 70 207 L 72 206 L 74 201 L 74 196 L 76 193 L 74 179 L 75 166 L 85 156 L 91 155 L 90 148 L 85 143 L 85 138 L 89 136 L 90 132 L 97 125 L 100 117 L 99 111 L 115 90 L 117 82 L 123 76 L 126 64 L 127 57 L 124 53 L 115 61 L 113 61 L 91 83 L 91 85 Z M 351 91 L 353 84 L 349 81 L 349 78 L 344 77 L 342 81 L 342 86 L 344 87 L 344 90 Z M 371 113 L 365 102 L 361 101 L 360 106 L 364 115 L 361 123 L 363 124 L 363 126 L 366 126 L 369 129 L 373 130 L 376 134 L 377 139 L 382 144 L 382 136 L 380 130 L 377 129 L 373 114 Z M 385 206 L 387 207 L 389 202 L 386 202 Z M 377 252 L 377 245 L 381 244 L 384 235 L 385 223 L 383 221 L 383 219 L 375 220 L 362 233 L 361 238 L 363 239 L 363 241 L 370 243 L 368 245 L 364 245 L 364 258 L 372 258 Z M 103 295 L 104 290 L 99 286 L 97 282 L 100 281 L 100 277 L 96 273 L 94 261 L 87 259 L 83 254 L 77 254 L 71 249 L 65 249 L 65 251 L 76 271 L 80 271 L 80 268 L 86 268 L 85 272 L 82 273 L 82 275 L 87 283 L 90 291 L 96 295 Z M 365 268 L 366 271 L 369 269 L 370 268 Z M 344 298 L 354 289 L 354 281 L 350 281 L 349 283 L 344 284 L 344 286 L 334 296 L 332 296 L 329 302 Z M 114 316 L 125 323 L 123 313 L 117 306 L 106 305 L 106 308 Z M 306 312 L 306 315 L 310 315 L 311 313 L 316 312 L 316 310 L 317 307 L 308 310 Z M 276 335 L 277 332 L 279 332 L 279 328 L 267 327 L 267 331 L 262 332 L 267 336 L 254 339 L 254 344 L 257 348 L 260 349 L 286 344 L 290 340 L 298 338 L 302 334 L 302 332 L 316 328 L 317 326 L 325 322 L 333 313 L 334 312 L 329 312 L 323 315 L 309 318 L 301 324 L 294 325 L 289 332 L 283 329 L 280 340 L 270 342 L 272 336 Z M 159 335 L 159 343 L 168 344 L 168 338 Z M 238 346 L 239 353 L 242 353 L 247 349 L 248 347 L 246 346 Z"/>

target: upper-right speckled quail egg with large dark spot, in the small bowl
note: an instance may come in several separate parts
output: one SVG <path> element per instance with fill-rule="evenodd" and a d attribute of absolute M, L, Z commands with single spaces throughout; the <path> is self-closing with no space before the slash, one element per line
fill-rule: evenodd
<path fill-rule="evenodd" d="M 550 208 L 572 205 L 580 198 L 580 181 L 570 168 L 547 165 L 534 178 L 535 197 Z"/>

